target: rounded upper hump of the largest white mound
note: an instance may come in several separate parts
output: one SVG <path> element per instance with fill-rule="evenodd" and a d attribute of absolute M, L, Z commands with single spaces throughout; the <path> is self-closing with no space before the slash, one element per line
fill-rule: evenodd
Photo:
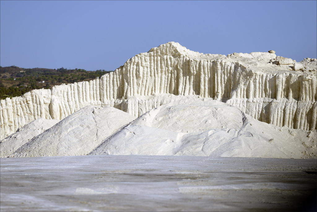
<path fill-rule="evenodd" d="M 204 132 L 208 129 L 240 129 L 244 113 L 211 98 L 186 98 L 152 109 L 130 125 L 143 125 L 173 132 Z"/>

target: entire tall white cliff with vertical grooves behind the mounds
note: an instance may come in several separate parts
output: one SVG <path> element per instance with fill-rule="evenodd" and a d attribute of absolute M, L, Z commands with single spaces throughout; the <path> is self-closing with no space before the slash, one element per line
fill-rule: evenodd
<path fill-rule="evenodd" d="M 296 63 L 265 52 L 203 54 L 169 42 L 100 79 L 1 100 L 1 139 L 37 118 L 62 120 L 87 105 L 141 116 L 173 101 L 164 94 L 209 97 L 262 122 L 317 129 L 316 86 L 316 59 Z"/>

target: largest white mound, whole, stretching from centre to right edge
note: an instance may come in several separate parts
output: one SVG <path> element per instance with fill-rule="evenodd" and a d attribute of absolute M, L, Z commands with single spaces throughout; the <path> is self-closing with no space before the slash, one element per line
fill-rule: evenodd
<path fill-rule="evenodd" d="M 188 98 L 148 111 L 90 155 L 317 158 L 316 135 L 259 122 L 209 98 Z"/>

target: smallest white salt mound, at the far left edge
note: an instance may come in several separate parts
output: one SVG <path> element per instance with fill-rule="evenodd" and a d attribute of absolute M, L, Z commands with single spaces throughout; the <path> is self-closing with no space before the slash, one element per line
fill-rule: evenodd
<path fill-rule="evenodd" d="M 51 128 L 60 120 L 39 118 L 19 128 L 15 133 L 0 142 L 0 157 L 7 157 L 26 142 L 45 130 Z"/>

